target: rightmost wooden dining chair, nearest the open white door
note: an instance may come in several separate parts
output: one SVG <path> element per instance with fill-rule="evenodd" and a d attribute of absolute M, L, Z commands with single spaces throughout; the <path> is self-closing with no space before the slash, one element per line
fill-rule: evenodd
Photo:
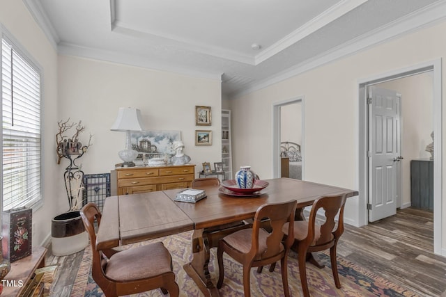
<path fill-rule="evenodd" d="M 341 288 L 341 282 L 339 281 L 339 275 L 337 273 L 336 246 L 339 237 L 344 232 L 345 204 L 345 194 L 318 198 L 312 205 L 308 220 L 295 220 L 293 223 L 294 243 L 291 248 L 298 252 L 300 282 L 302 283 L 304 296 L 309 296 L 306 271 L 307 259 L 312 259 L 311 252 L 319 252 L 321 250 L 327 250 L 328 248 L 330 248 L 334 284 L 336 284 L 338 289 Z M 318 214 L 319 209 L 325 211 L 323 214 L 324 218 L 316 218 L 316 214 L 322 216 L 322 214 Z M 322 213 L 323 211 L 319 212 Z M 339 216 L 336 226 L 335 218 L 338 213 Z M 316 223 L 318 220 L 323 223 Z M 289 223 L 286 223 L 283 227 L 285 236 L 291 234 L 288 225 Z"/>

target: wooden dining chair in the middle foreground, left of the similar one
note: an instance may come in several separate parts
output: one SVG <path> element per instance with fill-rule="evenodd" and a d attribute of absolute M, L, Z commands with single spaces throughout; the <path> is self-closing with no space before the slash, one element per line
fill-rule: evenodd
<path fill-rule="evenodd" d="M 220 239 L 217 259 L 220 275 L 217 289 L 221 289 L 224 280 L 223 252 L 243 264 L 243 289 L 245 297 L 251 296 L 250 273 L 252 267 L 261 267 L 280 260 L 284 294 L 290 296 L 288 287 L 287 257 L 293 244 L 294 224 L 288 224 L 288 236 L 285 241 L 282 228 L 289 221 L 293 222 L 296 200 L 283 203 L 263 204 L 256 211 L 252 228 L 239 230 Z M 262 218 L 269 218 L 271 232 L 261 227 Z"/>

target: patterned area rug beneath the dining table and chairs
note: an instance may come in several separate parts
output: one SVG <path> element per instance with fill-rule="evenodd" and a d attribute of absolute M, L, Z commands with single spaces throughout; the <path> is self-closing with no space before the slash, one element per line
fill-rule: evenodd
<path fill-rule="evenodd" d="M 197 285 L 183 270 L 183 265 L 190 262 L 192 232 L 185 232 L 174 236 L 166 236 L 154 241 L 162 241 L 171 252 L 174 261 L 174 271 L 176 281 L 180 287 L 180 296 L 203 296 Z M 144 241 L 138 245 L 150 243 Z M 209 271 L 214 284 L 218 280 L 217 249 L 211 249 Z M 320 261 L 325 264 L 325 268 L 319 269 L 312 264 L 307 265 L 307 278 L 311 296 L 417 296 L 407 289 L 393 284 L 374 273 L 366 271 L 364 268 L 348 262 L 338 256 L 339 278 L 341 289 L 334 285 L 332 271 L 330 268 L 330 257 L 324 253 L 319 253 Z M 72 297 L 80 296 L 104 296 L 102 290 L 91 278 L 91 246 L 87 246 L 75 280 Z M 224 283 L 219 290 L 220 296 L 243 296 L 242 266 L 228 255 L 224 254 Z M 299 268 L 297 254 L 291 252 L 289 255 L 289 286 L 292 296 L 302 296 L 300 287 Z M 280 263 L 276 265 L 273 273 L 268 271 L 268 267 L 262 273 L 257 273 L 256 268 L 251 271 L 251 293 L 252 296 L 284 296 L 282 287 L 282 276 L 280 274 Z M 164 296 L 160 289 L 148 291 L 143 294 L 134 294 L 132 297 L 142 296 Z"/>

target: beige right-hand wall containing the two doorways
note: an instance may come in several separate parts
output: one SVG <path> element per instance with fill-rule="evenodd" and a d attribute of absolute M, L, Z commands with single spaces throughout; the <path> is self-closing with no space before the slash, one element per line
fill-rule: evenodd
<path fill-rule="evenodd" d="M 409 66 L 444 57 L 446 39 L 438 37 L 445 31 L 446 22 L 420 29 L 231 99 L 233 127 L 237 127 L 233 129 L 233 165 L 249 164 L 261 177 L 272 177 L 272 104 L 303 95 L 305 179 L 358 189 L 358 81 L 397 70 L 403 72 Z M 442 66 L 444 69 L 444 60 Z M 443 90 L 445 82 L 443 78 Z M 445 109 L 443 104 L 443 115 Z M 445 133 L 443 129 L 443 138 Z M 446 166 L 442 164 L 442 168 L 445 175 Z M 346 204 L 345 217 L 349 223 L 363 219 L 358 199 L 349 199 Z M 446 203 L 442 213 L 446 213 Z M 445 232 L 446 220 L 443 220 L 443 250 L 446 250 Z"/>

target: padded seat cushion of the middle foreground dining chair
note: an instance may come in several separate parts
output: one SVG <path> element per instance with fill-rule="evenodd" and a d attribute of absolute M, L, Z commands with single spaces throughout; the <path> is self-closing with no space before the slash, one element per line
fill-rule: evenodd
<path fill-rule="evenodd" d="M 262 255 L 263 252 L 266 251 L 266 238 L 268 237 L 269 233 L 266 232 L 264 229 L 259 229 L 259 253 L 257 254 Z M 224 236 L 222 239 L 223 241 L 226 241 L 226 243 L 231 246 L 233 249 L 238 250 L 239 252 L 246 254 L 251 250 L 251 242 L 252 242 L 252 228 L 243 229 L 237 232 L 233 232 L 232 234 L 229 234 L 227 236 Z M 284 250 L 284 246 L 282 243 L 280 244 L 281 250 Z M 260 259 L 260 257 L 256 257 L 256 260 Z"/>

